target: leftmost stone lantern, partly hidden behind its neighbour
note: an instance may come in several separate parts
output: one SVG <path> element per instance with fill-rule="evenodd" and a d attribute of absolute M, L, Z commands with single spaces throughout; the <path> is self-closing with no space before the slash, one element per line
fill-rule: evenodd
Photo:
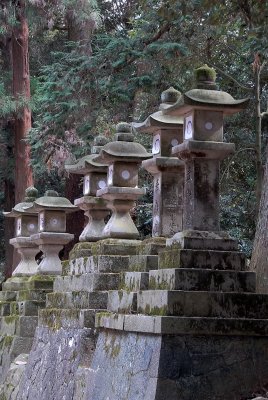
<path fill-rule="evenodd" d="M 38 264 L 35 256 L 39 252 L 38 246 L 31 240 L 31 235 L 38 231 L 37 212 L 30 211 L 38 191 L 34 187 L 25 190 L 25 199 L 17 204 L 12 211 L 4 212 L 5 217 L 15 218 L 15 237 L 10 239 L 21 256 L 21 261 L 12 273 L 12 276 L 30 276 L 37 274 Z"/>

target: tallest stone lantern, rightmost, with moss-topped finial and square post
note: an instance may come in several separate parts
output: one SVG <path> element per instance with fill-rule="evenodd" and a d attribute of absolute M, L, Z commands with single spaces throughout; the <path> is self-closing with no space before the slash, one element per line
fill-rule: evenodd
<path fill-rule="evenodd" d="M 191 247 L 207 238 L 207 246 L 213 247 L 219 242 L 216 239 L 225 238 L 226 246 L 232 246 L 220 231 L 219 221 L 220 161 L 235 151 L 234 144 L 223 142 L 223 120 L 243 110 L 249 100 L 235 100 L 217 90 L 216 73 L 207 65 L 196 70 L 196 80 L 196 89 L 164 111 L 184 118 L 184 141 L 172 149 L 185 162 L 184 232 L 174 239 Z"/>

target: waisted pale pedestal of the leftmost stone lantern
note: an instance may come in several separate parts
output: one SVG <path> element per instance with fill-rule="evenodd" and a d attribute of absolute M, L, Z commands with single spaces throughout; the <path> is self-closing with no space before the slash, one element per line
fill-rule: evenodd
<path fill-rule="evenodd" d="M 21 261 L 13 271 L 12 276 L 31 276 L 38 273 L 38 264 L 35 256 L 39 252 L 38 246 L 29 237 L 10 239 L 9 243 L 18 250 Z"/>

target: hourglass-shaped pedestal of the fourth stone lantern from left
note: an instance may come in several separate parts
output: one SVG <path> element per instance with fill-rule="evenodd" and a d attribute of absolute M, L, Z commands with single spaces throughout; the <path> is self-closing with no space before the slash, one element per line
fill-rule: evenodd
<path fill-rule="evenodd" d="M 98 190 L 98 196 L 109 201 L 113 213 L 103 230 L 104 238 L 137 239 L 139 232 L 129 211 L 135 206 L 135 201 L 145 194 L 144 189 L 131 187 L 108 186 Z"/>

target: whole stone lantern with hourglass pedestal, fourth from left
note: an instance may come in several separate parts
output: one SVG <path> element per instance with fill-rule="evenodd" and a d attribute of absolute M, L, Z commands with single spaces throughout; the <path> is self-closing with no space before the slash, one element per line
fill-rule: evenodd
<path fill-rule="evenodd" d="M 103 237 L 137 239 L 139 232 L 129 214 L 135 200 L 145 194 L 138 188 L 138 169 L 141 162 L 151 154 L 135 143 L 131 126 L 120 123 L 116 127 L 116 140 L 103 146 L 100 161 L 107 163 L 107 187 L 97 191 L 97 196 L 108 200 L 112 216 L 103 230 Z"/>

